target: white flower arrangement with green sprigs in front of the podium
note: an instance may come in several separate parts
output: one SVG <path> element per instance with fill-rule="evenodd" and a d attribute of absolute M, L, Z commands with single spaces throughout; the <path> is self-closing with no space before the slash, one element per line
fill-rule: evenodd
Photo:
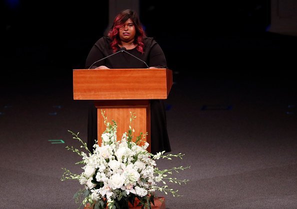
<path fill-rule="evenodd" d="M 134 130 L 131 128 L 131 122 L 136 118 L 134 113 L 130 113 L 128 132 L 123 133 L 121 140 L 117 141 L 116 122 L 113 120 L 113 124 L 107 122 L 104 113 L 101 110 L 106 130 L 101 135 L 101 146 L 97 143 L 94 144 L 93 154 L 87 149 L 86 143 L 78 137 L 78 133 L 69 131 L 73 135 L 73 139 L 82 144 L 80 148 L 84 148 L 88 152 L 87 155 L 72 146 L 66 147 L 67 150 L 82 157 L 82 161 L 75 164 L 84 164 L 83 172 L 80 175 L 72 174 L 69 170 L 62 168 L 64 173 L 61 181 L 78 180 L 81 185 L 84 185 L 84 189 L 79 190 L 73 196 L 75 203 L 78 203 L 82 196 L 83 200 L 80 206 L 91 206 L 94 209 L 106 209 L 106 207 L 108 209 L 128 209 L 129 204 L 134 206 L 138 200 L 137 206 L 141 206 L 142 209 L 150 209 L 151 204 L 154 205 L 154 199 L 157 198 L 155 191 L 171 193 L 173 197 L 180 196 L 177 194 L 178 190 L 169 189 L 165 181 L 179 185 L 185 184 L 188 180 L 171 178 L 168 177 L 168 174 L 172 175 L 172 171 L 178 173 L 178 171 L 190 167 L 180 166 L 159 170 L 155 167 L 155 160 L 160 158 L 171 160 L 172 157 L 182 159 L 184 155 L 181 153 L 163 155 L 164 151 L 153 155 L 147 152 L 148 143 L 145 142 L 140 146 L 147 133 L 140 133 L 136 139 L 132 140 Z M 157 186 L 157 183 L 160 182 L 163 186 Z"/>

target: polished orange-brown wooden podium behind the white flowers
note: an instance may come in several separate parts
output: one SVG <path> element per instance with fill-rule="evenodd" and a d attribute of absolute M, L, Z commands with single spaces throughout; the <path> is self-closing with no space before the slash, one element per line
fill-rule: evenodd
<path fill-rule="evenodd" d="M 134 136 L 146 133 L 150 144 L 150 99 L 166 99 L 172 86 L 172 71 L 157 69 L 74 69 L 73 99 L 94 100 L 97 108 L 98 144 L 105 131 L 101 109 L 108 122 L 117 123 L 117 139 L 128 131 L 130 112 Z M 135 140 L 135 139 L 134 139 Z M 147 151 L 150 152 L 150 146 Z"/>

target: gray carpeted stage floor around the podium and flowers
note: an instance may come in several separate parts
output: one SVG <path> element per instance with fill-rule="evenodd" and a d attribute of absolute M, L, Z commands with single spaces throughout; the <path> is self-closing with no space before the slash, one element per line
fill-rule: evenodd
<path fill-rule="evenodd" d="M 171 153 L 185 156 L 157 166 L 190 165 L 174 174 L 189 182 L 169 185 L 182 197 L 157 193 L 166 208 L 297 208 L 296 86 L 188 74 L 175 72 L 165 102 Z M 88 101 L 72 99 L 69 78 L 1 86 L 0 208 L 79 207 L 72 196 L 81 186 L 60 178 L 61 168 L 82 172 L 65 146 L 78 146 L 67 130 L 86 140 Z"/>

